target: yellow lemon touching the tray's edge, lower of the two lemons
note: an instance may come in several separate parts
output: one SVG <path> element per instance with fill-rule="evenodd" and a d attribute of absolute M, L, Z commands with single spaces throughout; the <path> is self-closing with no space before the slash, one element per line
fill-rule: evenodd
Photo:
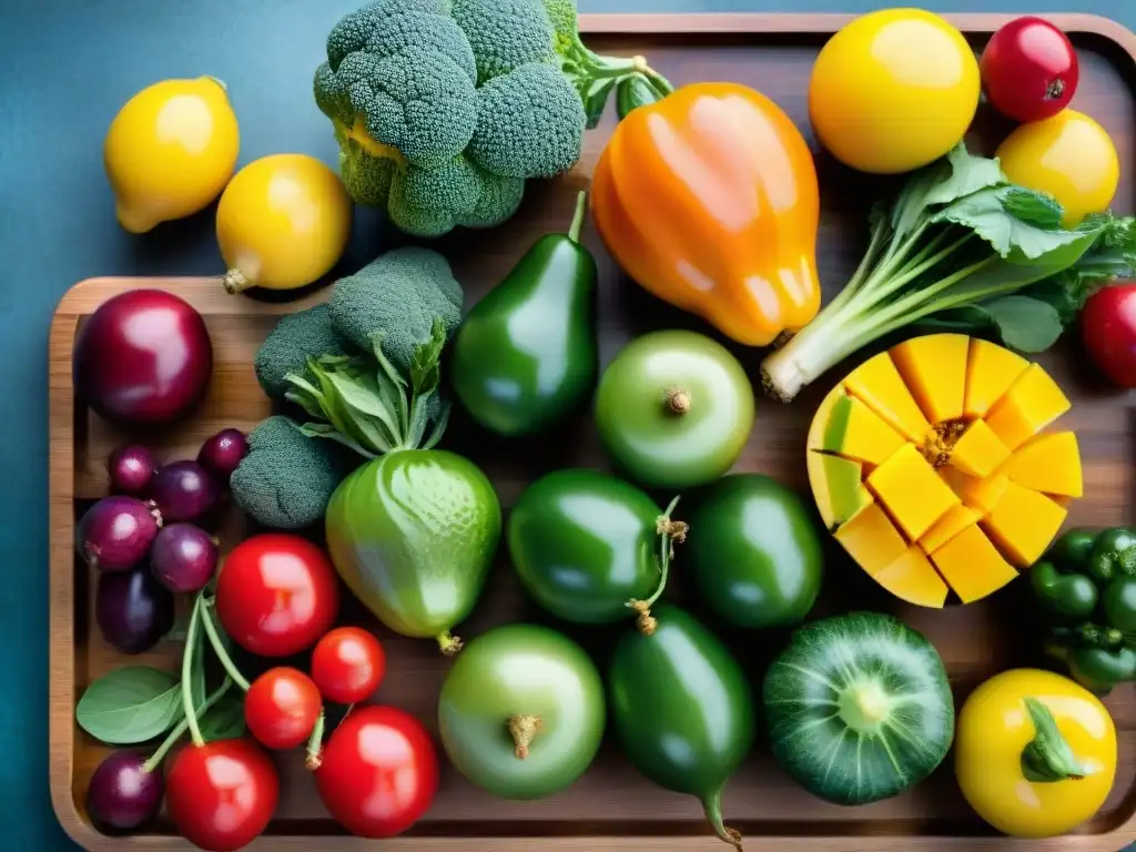
<path fill-rule="evenodd" d="M 315 157 L 276 153 L 250 162 L 217 207 L 225 289 L 295 290 L 318 281 L 346 249 L 351 216 L 343 182 Z"/>

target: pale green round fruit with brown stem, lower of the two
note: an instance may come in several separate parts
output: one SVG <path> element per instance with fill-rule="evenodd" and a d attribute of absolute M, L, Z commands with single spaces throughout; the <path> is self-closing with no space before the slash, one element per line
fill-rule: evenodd
<path fill-rule="evenodd" d="M 542 799 L 592 763 L 604 727 L 603 680 L 584 650 L 536 625 L 482 634 L 442 684 L 437 720 L 450 762 L 502 799 Z"/>

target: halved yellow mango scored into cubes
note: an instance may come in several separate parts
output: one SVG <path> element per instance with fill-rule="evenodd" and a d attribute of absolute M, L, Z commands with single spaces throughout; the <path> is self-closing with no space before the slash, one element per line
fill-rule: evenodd
<path fill-rule="evenodd" d="M 825 524 L 895 596 L 943 607 L 1002 588 L 1081 494 L 1069 400 L 1036 364 L 960 334 L 912 337 L 854 369 L 809 429 Z"/>

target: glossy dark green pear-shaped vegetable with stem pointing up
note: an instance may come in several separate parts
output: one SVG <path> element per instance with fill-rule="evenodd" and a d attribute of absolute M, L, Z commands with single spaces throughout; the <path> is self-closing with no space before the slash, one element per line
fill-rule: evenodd
<path fill-rule="evenodd" d="M 568 232 L 537 240 L 454 336 L 454 393 L 504 437 L 551 426 L 595 387 L 596 267 L 579 242 L 585 210 L 582 192 Z"/>

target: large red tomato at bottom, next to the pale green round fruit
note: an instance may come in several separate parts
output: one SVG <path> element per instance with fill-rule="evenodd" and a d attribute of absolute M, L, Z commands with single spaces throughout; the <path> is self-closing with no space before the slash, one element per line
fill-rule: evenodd
<path fill-rule="evenodd" d="M 437 751 L 410 713 L 377 704 L 356 708 L 324 746 L 316 790 L 352 834 L 393 837 L 434 801 Z"/>

